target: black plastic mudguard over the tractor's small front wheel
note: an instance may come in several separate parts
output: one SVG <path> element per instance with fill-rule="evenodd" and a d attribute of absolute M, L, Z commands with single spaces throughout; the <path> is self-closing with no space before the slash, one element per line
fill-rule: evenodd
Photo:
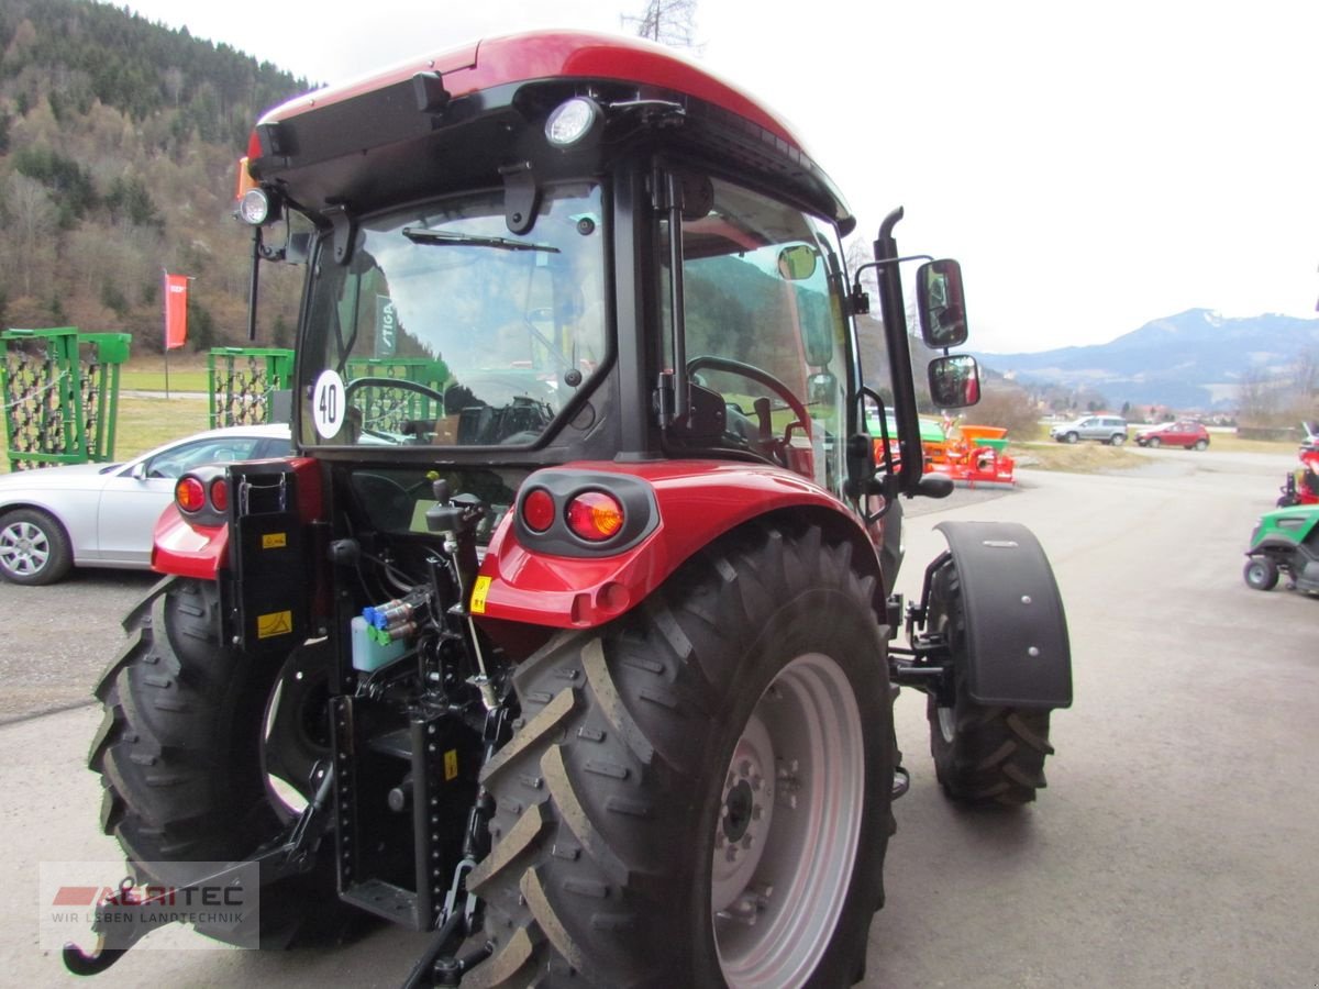
<path fill-rule="evenodd" d="M 1071 644 L 1053 567 L 1016 522 L 939 522 L 966 612 L 967 688 L 984 705 L 1071 707 Z"/>

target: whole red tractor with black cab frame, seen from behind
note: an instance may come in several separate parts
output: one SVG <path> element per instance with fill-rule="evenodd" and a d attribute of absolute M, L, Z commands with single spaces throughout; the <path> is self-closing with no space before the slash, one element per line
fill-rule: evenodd
<path fill-rule="evenodd" d="M 769 109 L 642 42 L 492 38 L 269 111 L 239 212 L 253 297 L 306 268 L 298 455 L 193 471 L 157 527 L 91 752 L 124 903 L 245 889 L 259 923 L 197 926 L 261 945 L 384 918 L 410 985 L 847 985 L 898 687 L 951 798 L 1045 785 L 1049 562 L 944 522 L 904 609 L 902 498 L 952 485 L 901 211 L 867 384 L 855 219 Z M 934 406 L 975 401 L 958 265 L 915 285 Z"/>

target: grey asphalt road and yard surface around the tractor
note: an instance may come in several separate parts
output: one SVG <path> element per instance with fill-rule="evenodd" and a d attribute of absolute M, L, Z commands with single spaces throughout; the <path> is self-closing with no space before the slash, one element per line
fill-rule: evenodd
<path fill-rule="evenodd" d="M 1022 471 L 1012 492 L 959 491 L 910 513 L 909 596 L 943 549 L 936 522 L 1035 531 L 1067 608 L 1076 704 L 1054 715 L 1039 802 L 985 814 L 943 798 L 923 699 L 900 698 L 913 781 L 865 986 L 1319 985 L 1319 600 L 1241 580 L 1250 529 L 1289 468 L 1286 456 L 1155 451 L 1121 476 Z M 0 833 L 20 890 L 0 918 L 11 984 L 77 981 L 38 947 L 37 869 L 117 858 L 83 767 L 99 716 L 69 705 L 84 703 L 120 614 L 150 583 L 0 584 Z M 397 985 L 419 951 L 397 930 L 328 953 L 182 949 L 207 944 L 160 931 L 100 978 Z"/>

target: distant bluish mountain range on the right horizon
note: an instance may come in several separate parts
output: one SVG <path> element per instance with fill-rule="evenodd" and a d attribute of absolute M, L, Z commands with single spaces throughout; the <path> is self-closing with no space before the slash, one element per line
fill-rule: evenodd
<path fill-rule="evenodd" d="M 1037 353 L 976 353 L 993 373 L 1029 386 L 1086 389 L 1111 407 L 1231 409 L 1250 377 L 1283 378 L 1319 359 L 1319 319 L 1225 319 L 1207 309 L 1146 323 L 1105 344 Z"/>

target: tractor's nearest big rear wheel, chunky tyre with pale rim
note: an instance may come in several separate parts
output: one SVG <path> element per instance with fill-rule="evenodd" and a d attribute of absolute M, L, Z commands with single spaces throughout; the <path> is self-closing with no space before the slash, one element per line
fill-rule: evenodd
<path fill-rule="evenodd" d="M 463 985 L 857 980 L 892 822 L 873 593 L 818 529 L 756 527 L 524 663 Z"/>

